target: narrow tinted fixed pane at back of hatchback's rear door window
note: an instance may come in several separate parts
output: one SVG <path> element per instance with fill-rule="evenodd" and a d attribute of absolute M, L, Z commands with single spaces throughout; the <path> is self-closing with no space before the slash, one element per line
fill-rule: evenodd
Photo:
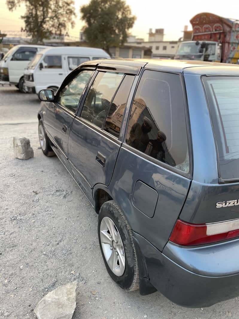
<path fill-rule="evenodd" d="M 115 137 L 119 137 L 120 135 L 123 115 L 133 81 L 134 76 L 125 76 L 122 83 L 120 84 L 117 93 L 115 94 L 114 100 L 111 103 L 109 112 L 105 120 L 104 130 L 111 133 Z"/>

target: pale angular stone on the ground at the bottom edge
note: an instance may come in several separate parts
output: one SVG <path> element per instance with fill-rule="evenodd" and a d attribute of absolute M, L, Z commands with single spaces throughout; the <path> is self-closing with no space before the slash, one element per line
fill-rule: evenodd
<path fill-rule="evenodd" d="M 38 319 L 71 319 L 76 308 L 76 281 L 47 293 L 34 309 Z"/>

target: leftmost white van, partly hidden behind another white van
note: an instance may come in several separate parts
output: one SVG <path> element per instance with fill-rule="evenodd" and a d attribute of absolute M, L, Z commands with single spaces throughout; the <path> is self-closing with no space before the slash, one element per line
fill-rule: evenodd
<path fill-rule="evenodd" d="M 24 88 L 24 69 L 44 45 L 16 45 L 0 61 L 0 85 L 16 85 L 22 93 Z"/>

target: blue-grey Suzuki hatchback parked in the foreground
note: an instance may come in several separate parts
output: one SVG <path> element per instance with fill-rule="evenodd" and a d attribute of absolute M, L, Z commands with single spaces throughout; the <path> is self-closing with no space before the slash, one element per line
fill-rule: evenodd
<path fill-rule="evenodd" d="M 55 95 L 40 91 L 42 151 L 98 213 L 105 267 L 126 291 L 192 308 L 239 295 L 238 74 L 222 63 L 96 60 Z"/>

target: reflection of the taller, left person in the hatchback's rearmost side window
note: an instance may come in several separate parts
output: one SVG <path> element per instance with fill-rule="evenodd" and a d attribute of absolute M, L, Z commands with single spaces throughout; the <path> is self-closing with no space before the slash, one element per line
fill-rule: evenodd
<path fill-rule="evenodd" d="M 144 122 L 142 125 L 137 122 L 134 123 L 130 130 L 129 139 L 127 141 L 128 145 L 136 148 L 141 152 L 144 152 L 146 150 L 149 141 L 148 133 L 153 127 L 153 123 L 149 120 L 148 117 L 144 116 L 143 120 Z"/>

